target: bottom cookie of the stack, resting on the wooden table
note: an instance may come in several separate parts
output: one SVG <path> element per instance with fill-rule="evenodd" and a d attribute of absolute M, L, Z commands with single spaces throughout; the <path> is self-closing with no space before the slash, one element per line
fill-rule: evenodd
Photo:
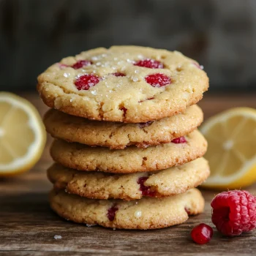
<path fill-rule="evenodd" d="M 204 200 L 199 190 L 190 189 L 172 197 L 145 197 L 140 200 L 97 200 L 50 192 L 50 207 L 64 219 L 87 225 L 147 230 L 185 222 L 200 214 Z"/>

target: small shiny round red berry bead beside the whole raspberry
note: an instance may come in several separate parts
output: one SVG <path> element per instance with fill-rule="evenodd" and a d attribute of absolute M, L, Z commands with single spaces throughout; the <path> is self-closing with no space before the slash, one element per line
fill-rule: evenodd
<path fill-rule="evenodd" d="M 191 231 L 191 237 L 197 244 L 208 243 L 208 241 L 211 240 L 213 234 L 214 230 L 204 223 L 195 226 Z"/>

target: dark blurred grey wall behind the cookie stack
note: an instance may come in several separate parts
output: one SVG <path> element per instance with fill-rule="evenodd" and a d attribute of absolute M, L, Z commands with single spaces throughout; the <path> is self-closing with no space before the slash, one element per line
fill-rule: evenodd
<path fill-rule="evenodd" d="M 211 90 L 256 90 L 256 0 L 0 0 L 0 89 L 34 89 L 50 64 L 82 50 L 180 50 Z"/>

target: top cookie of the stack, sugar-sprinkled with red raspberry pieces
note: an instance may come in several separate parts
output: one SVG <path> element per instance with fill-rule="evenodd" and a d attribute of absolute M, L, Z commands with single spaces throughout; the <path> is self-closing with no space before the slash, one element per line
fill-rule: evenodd
<path fill-rule="evenodd" d="M 46 105 L 73 116 L 141 123 L 184 112 L 202 99 L 208 77 L 176 51 L 113 46 L 53 64 L 37 89 Z"/>

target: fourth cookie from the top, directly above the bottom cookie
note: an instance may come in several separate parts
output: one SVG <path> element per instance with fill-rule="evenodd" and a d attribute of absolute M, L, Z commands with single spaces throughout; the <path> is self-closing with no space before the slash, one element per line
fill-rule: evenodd
<path fill-rule="evenodd" d="M 85 173 L 59 164 L 48 169 L 55 189 L 92 199 L 123 200 L 181 194 L 200 185 L 209 174 L 208 162 L 203 158 L 154 173 Z"/>

